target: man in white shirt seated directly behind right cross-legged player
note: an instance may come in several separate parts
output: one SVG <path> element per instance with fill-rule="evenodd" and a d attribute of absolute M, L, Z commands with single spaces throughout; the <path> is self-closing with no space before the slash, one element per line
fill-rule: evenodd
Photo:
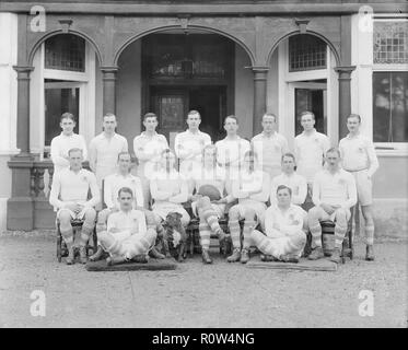
<path fill-rule="evenodd" d="M 289 187 L 292 191 L 291 198 L 292 203 L 302 206 L 307 195 L 307 183 L 306 178 L 299 175 L 294 171 L 296 163 L 292 153 L 284 153 L 282 155 L 282 173 L 271 180 L 270 186 L 270 203 L 277 203 L 277 188 L 281 185 Z"/>

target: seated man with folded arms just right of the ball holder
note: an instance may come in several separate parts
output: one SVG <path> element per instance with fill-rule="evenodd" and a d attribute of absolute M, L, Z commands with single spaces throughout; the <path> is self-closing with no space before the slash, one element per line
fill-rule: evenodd
<path fill-rule="evenodd" d="M 257 170 L 256 153 L 247 151 L 244 155 L 244 168 L 238 179 L 232 183 L 232 196 L 238 199 L 229 212 L 229 228 L 234 252 L 226 258 L 229 262 L 249 260 L 250 233 L 257 223 L 263 220 L 266 211 L 266 201 L 270 194 L 269 174 Z M 240 220 L 244 219 L 243 246 L 241 248 Z M 257 220 L 257 221 L 256 221 Z"/>

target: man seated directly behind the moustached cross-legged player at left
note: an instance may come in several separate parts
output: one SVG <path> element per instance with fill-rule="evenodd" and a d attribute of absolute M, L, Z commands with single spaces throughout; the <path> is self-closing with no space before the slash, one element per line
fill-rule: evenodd
<path fill-rule="evenodd" d="M 130 174 L 130 167 L 131 167 L 131 159 L 129 152 L 120 152 L 118 154 L 118 170 L 116 174 L 112 174 L 105 177 L 104 179 L 104 201 L 107 208 L 102 210 L 97 215 L 97 222 L 96 222 L 96 233 L 106 231 L 106 223 L 108 217 L 120 210 L 120 203 L 119 203 L 119 189 L 123 187 L 129 187 L 132 192 L 135 194 L 132 196 L 133 202 L 132 208 L 143 211 L 147 224 L 149 228 L 153 230 L 158 230 L 160 232 L 163 230 L 163 228 L 159 226 L 159 222 L 156 222 L 154 214 L 144 209 L 143 207 L 143 191 L 141 186 L 141 180 L 139 177 L 133 176 Z M 152 255 L 158 253 L 155 249 L 152 250 Z M 98 245 L 97 252 L 90 257 L 90 260 L 95 261 L 98 260 L 103 255 L 103 249 Z M 161 254 L 155 254 L 155 257 L 158 258 L 164 258 Z"/>

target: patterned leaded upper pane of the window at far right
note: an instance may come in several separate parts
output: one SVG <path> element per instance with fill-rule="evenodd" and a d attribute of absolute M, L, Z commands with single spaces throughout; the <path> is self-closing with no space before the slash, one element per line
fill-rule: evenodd
<path fill-rule="evenodd" d="M 374 63 L 408 63 L 408 22 L 374 22 Z"/>

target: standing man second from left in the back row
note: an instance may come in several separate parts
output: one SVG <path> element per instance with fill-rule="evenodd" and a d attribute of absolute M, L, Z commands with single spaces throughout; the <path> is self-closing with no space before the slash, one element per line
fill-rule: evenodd
<path fill-rule="evenodd" d="M 104 115 L 103 131 L 90 143 L 90 166 L 100 187 L 103 178 L 116 172 L 118 154 L 128 151 L 128 141 L 115 132 L 116 127 L 116 116 L 112 113 Z"/>

